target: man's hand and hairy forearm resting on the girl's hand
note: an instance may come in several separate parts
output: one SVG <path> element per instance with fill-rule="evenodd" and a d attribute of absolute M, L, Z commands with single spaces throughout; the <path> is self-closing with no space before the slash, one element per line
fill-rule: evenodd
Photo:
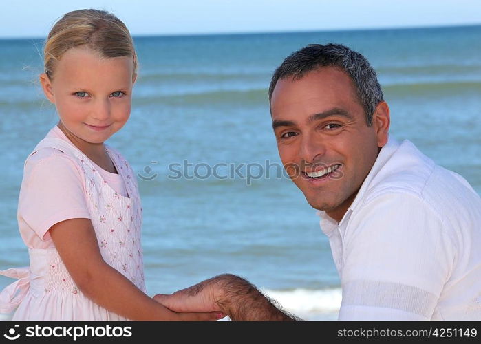
<path fill-rule="evenodd" d="M 175 312 L 222 312 L 239 321 L 301 320 L 280 310 L 246 279 L 224 274 L 206 279 L 171 295 L 153 297 Z"/>

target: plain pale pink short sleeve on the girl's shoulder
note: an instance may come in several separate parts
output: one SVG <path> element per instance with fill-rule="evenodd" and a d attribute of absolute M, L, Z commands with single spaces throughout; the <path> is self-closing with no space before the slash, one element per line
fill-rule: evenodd
<path fill-rule="evenodd" d="M 43 241 L 48 230 L 66 219 L 90 219 L 83 175 L 64 153 L 50 155 L 25 172 L 19 197 L 19 217 Z"/>

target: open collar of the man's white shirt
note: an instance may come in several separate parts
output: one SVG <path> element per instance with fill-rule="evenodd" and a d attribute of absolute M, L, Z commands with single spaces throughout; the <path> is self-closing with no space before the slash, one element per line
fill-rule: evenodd
<path fill-rule="evenodd" d="M 327 213 L 325 213 L 325 211 L 317 211 L 317 215 L 321 217 L 321 228 L 326 235 L 329 235 L 334 228 L 343 224 L 343 222 L 350 217 L 350 213 L 352 213 L 357 206 L 362 203 L 364 200 L 364 195 L 370 188 L 372 180 L 376 177 L 378 172 L 381 171 L 394 152 L 399 148 L 399 145 L 399 142 L 395 138 L 388 136 L 387 144 L 381 148 L 376 161 L 372 165 L 371 171 L 367 174 L 363 184 L 361 185 L 361 188 L 357 192 L 356 198 L 354 198 L 354 201 L 348 208 L 348 211 L 345 212 L 339 224 L 336 222 L 336 220 L 332 219 Z"/>

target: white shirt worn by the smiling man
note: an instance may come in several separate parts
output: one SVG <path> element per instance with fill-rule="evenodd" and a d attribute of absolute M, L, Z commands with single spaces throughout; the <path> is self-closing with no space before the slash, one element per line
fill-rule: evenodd
<path fill-rule="evenodd" d="M 339 224 L 317 213 L 339 320 L 481 320 L 481 198 L 408 140 L 389 138 Z"/>

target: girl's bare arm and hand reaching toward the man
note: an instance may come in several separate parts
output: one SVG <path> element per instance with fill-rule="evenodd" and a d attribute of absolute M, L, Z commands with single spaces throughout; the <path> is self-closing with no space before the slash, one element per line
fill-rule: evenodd
<path fill-rule="evenodd" d="M 63 264 L 78 288 L 98 305 L 131 320 L 217 320 L 220 312 L 172 312 L 107 264 L 90 219 L 68 219 L 50 228 Z M 79 264 L 80 261 L 80 264 Z"/>

